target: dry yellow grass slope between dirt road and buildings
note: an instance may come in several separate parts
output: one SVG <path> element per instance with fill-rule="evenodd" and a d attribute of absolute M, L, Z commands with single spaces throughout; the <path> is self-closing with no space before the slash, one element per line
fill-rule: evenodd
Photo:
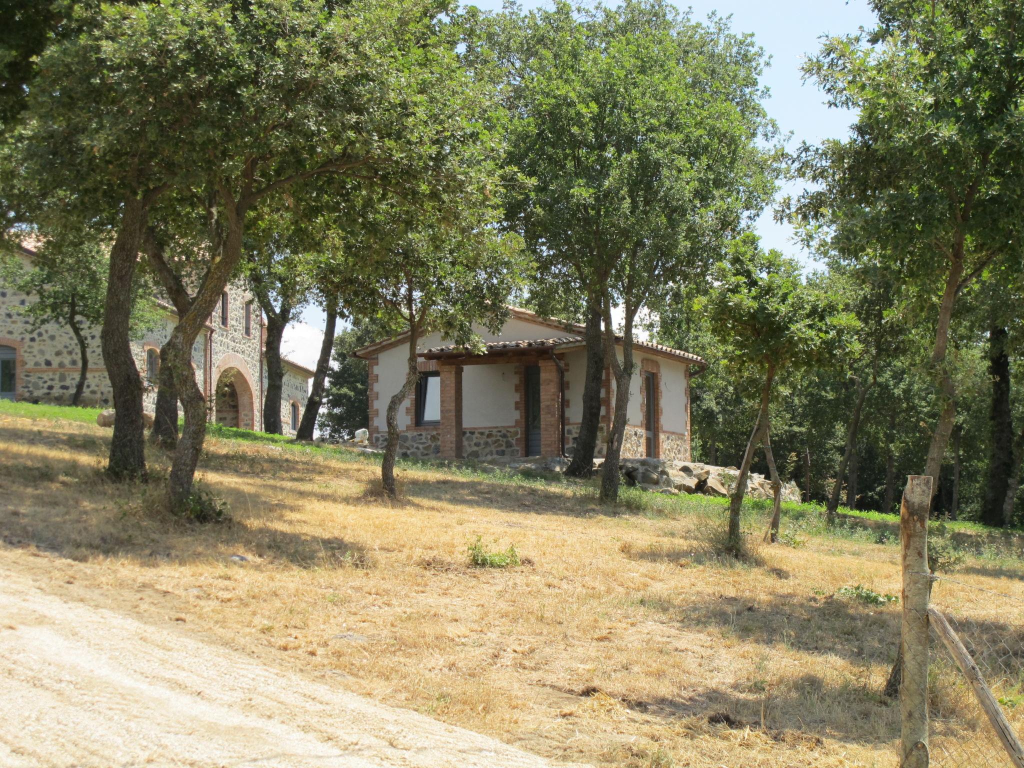
<path fill-rule="evenodd" d="M 159 483 L 101 478 L 108 435 L 0 415 L 0 556 L 54 591 L 553 759 L 895 764 L 878 692 L 898 608 L 830 597 L 898 594 L 893 547 L 812 538 L 730 565 L 700 557 L 711 513 L 612 516 L 561 486 L 418 470 L 392 505 L 373 464 L 233 440 L 208 441 L 201 468 L 234 521 L 189 525 L 158 511 Z M 528 563 L 468 567 L 477 536 Z"/>

